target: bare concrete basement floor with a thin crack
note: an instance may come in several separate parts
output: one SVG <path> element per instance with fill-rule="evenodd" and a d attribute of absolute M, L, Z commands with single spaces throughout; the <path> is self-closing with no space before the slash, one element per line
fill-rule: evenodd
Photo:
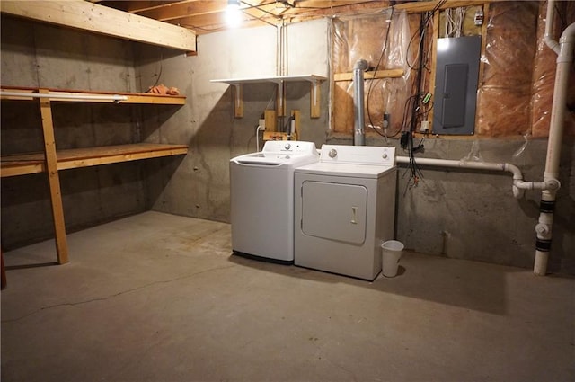
<path fill-rule="evenodd" d="M 4 253 L 2 380 L 572 381 L 575 280 L 406 253 L 370 283 L 158 212 Z"/>

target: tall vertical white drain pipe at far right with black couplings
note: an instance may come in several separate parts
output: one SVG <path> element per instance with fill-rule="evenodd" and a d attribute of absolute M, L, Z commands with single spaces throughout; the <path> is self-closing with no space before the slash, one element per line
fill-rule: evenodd
<path fill-rule="evenodd" d="M 555 87 L 553 88 L 553 105 L 551 107 L 551 121 L 549 122 L 549 140 L 547 143 L 547 158 L 545 161 L 544 182 L 557 181 L 559 177 L 559 162 L 561 156 L 561 142 L 563 138 L 563 124 L 565 118 L 565 101 L 567 86 L 569 83 L 569 69 L 573 60 L 573 48 L 575 47 L 575 23 L 568 26 L 562 32 L 557 41 L 553 40 L 554 1 L 547 3 L 547 16 L 545 22 L 545 43 L 557 56 L 557 69 L 555 72 Z M 553 238 L 553 209 L 555 208 L 555 190 L 541 192 L 541 204 L 539 221 L 535 226 L 537 241 L 535 244 L 535 264 L 533 272 L 538 276 L 547 273 L 547 262 Z"/>

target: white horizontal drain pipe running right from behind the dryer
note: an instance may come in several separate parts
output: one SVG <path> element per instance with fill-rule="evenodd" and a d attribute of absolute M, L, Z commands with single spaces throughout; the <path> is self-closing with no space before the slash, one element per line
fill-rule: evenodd
<path fill-rule="evenodd" d="M 410 164 L 409 156 L 397 156 L 395 158 L 398 164 Z M 468 162 L 456 161 L 448 159 L 434 159 L 434 158 L 417 158 L 418 165 L 426 165 L 433 167 L 447 167 L 447 168 L 466 168 L 470 170 L 482 171 L 505 171 L 513 174 L 513 196 L 516 199 L 521 199 L 526 190 L 557 190 L 560 187 L 559 181 L 556 179 L 547 180 L 544 182 L 526 182 L 523 180 L 523 173 L 515 164 L 508 163 L 492 163 L 492 162 Z"/>

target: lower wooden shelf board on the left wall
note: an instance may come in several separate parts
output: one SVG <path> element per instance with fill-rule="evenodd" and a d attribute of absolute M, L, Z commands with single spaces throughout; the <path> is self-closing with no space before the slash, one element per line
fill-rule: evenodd
<path fill-rule="evenodd" d="M 184 155 L 187 152 L 188 147 L 186 145 L 153 143 L 72 148 L 57 151 L 57 169 L 67 170 L 78 167 L 157 158 L 160 156 Z M 2 156 L 1 176 L 3 178 L 28 173 L 43 173 L 45 171 L 46 164 L 44 162 L 44 154 L 42 153 Z"/>

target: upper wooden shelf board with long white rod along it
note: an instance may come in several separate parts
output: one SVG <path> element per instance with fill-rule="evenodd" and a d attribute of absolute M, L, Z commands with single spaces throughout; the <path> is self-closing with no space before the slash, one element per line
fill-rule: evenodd
<path fill-rule="evenodd" d="M 79 91 L 67 89 L 52 89 L 45 88 L 50 93 L 50 101 L 52 102 L 98 102 L 98 103 L 146 103 L 146 104 L 170 104 L 170 105 L 183 105 L 186 103 L 184 95 L 164 95 L 155 93 L 122 93 L 122 92 L 93 92 L 93 91 Z M 38 93 L 39 88 L 34 87 L 13 87 L 2 86 L 3 92 L 22 93 L 19 95 L 2 95 L 3 100 L 14 101 L 31 101 L 34 98 L 28 96 L 31 93 Z M 74 95 L 77 99 L 60 98 L 58 95 Z M 82 98 L 83 96 L 92 95 L 123 95 L 127 100 L 113 101 L 113 100 L 93 100 L 90 98 Z"/>

